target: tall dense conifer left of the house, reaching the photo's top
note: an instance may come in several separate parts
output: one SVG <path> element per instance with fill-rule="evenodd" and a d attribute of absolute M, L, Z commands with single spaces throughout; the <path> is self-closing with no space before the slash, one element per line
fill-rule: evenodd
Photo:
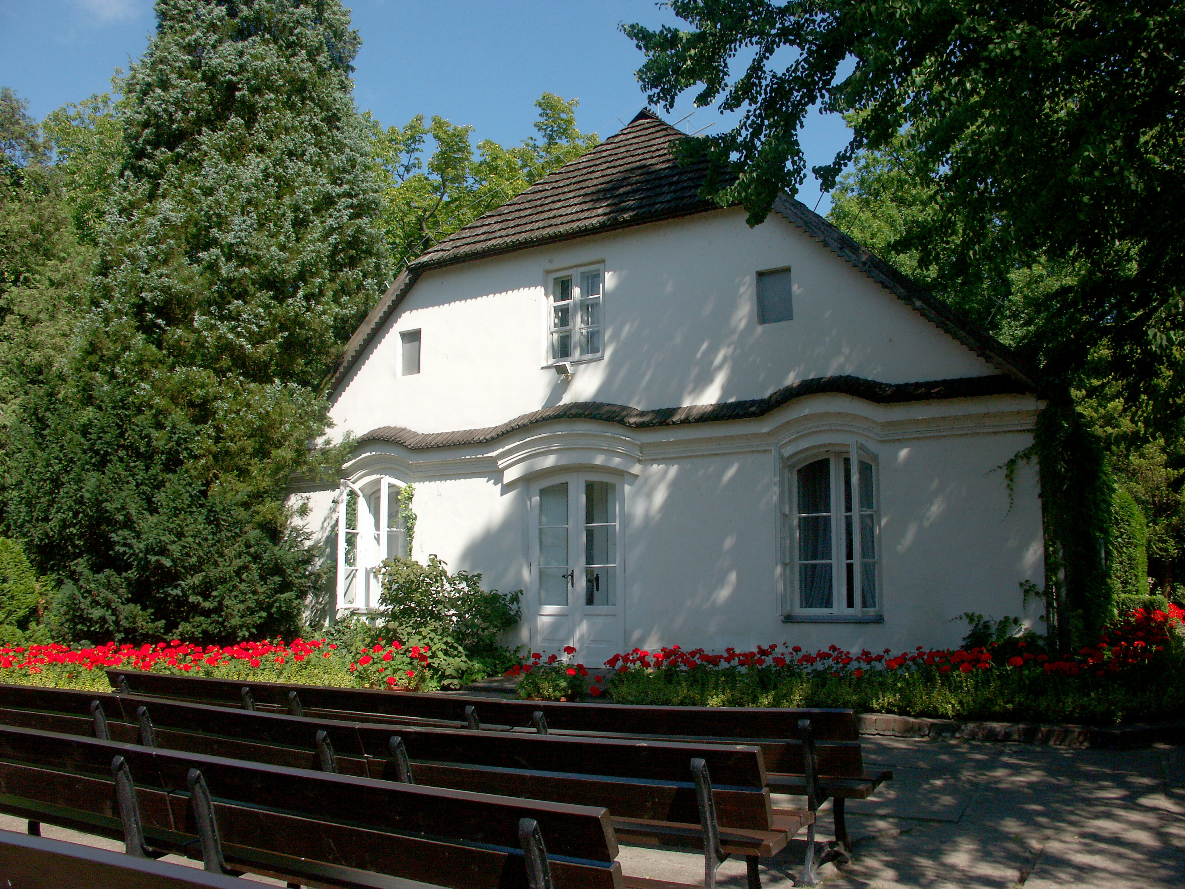
<path fill-rule="evenodd" d="M 96 308 L 69 385 L 13 423 L 6 520 L 71 582 L 71 638 L 290 633 L 320 581 L 286 487 L 340 455 L 308 447 L 319 386 L 385 287 L 359 39 L 337 0 L 159 0 L 156 20 Z"/>

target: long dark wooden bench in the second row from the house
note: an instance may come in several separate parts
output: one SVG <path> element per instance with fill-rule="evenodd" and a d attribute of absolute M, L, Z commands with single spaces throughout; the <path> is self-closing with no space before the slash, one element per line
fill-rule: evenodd
<path fill-rule="evenodd" d="M 96 718 L 104 710 L 122 715 L 124 723 L 108 721 L 100 729 Z M 813 821 L 809 812 L 771 808 L 762 754 L 755 747 L 366 725 L 140 696 L 101 699 L 78 691 L 0 685 L 0 722 L 5 719 L 82 736 L 110 734 L 118 725 L 127 740 L 135 734 L 142 743 L 168 749 L 604 806 L 614 816 L 619 838 L 707 845 L 705 868 L 712 872 L 713 856 L 743 856 L 754 885 L 760 885 L 758 859 L 780 852 Z M 409 757 L 406 765 L 401 767 L 392 757 L 392 744 Z M 698 778 L 696 760 L 702 763 Z M 711 791 L 713 780 L 709 799 L 717 814 L 705 830 L 697 784 Z M 718 842 L 705 844 L 705 836 Z M 813 882 L 813 874 L 807 876 Z"/>

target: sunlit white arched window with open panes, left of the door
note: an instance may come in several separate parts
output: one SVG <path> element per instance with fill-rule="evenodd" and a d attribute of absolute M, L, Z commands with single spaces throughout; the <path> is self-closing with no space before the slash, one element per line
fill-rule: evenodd
<path fill-rule="evenodd" d="M 338 610 L 378 607 L 376 570 L 406 557 L 408 532 L 399 511 L 401 482 L 387 477 L 361 485 L 342 481 L 338 503 Z"/>

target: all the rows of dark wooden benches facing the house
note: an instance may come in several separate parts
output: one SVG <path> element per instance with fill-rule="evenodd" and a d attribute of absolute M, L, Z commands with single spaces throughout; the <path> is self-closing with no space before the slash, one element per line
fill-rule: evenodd
<path fill-rule="evenodd" d="M 0 810 L 122 837 L 133 855 L 200 846 L 207 869 L 289 884 L 672 885 L 622 877 L 621 838 L 702 849 L 706 887 L 719 861 L 743 855 L 755 887 L 757 861 L 803 826 L 811 883 L 818 804 L 889 778 L 864 773 L 858 742 L 813 743 L 816 724 L 854 735 L 843 711 L 556 706 L 150 673 L 111 682 L 118 693 L 0 686 Z M 658 731 L 628 730 L 643 727 Z M 662 731 L 688 728 L 697 734 L 677 741 Z M 794 781 L 807 810 L 774 810 L 770 789 Z M 837 836 L 841 819 L 840 808 Z"/>

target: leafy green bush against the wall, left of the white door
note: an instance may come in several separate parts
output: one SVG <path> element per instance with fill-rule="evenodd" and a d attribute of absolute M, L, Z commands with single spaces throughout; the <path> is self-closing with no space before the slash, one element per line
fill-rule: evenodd
<path fill-rule="evenodd" d="M 502 638 L 523 616 L 523 590 L 483 590 L 480 574 L 449 574 L 435 555 L 427 564 L 387 559 L 378 576 L 383 632 L 427 647 L 442 685 L 474 682 L 515 663 Z"/>

